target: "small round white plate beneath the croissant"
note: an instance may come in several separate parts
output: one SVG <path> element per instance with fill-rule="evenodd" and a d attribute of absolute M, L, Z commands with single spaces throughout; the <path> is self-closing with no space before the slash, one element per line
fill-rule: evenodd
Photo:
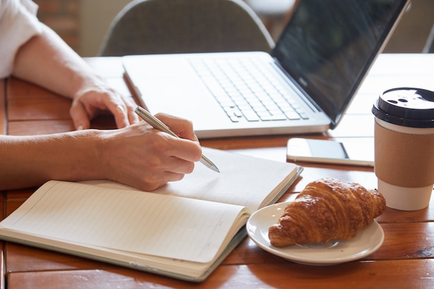
<path fill-rule="evenodd" d="M 288 202 L 272 204 L 250 216 L 246 228 L 248 235 L 259 247 L 289 261 L 306 265 L 336 265 L 361 259 L 372 254 L 383 244 L 384 232 L 379 223 L 373 221 L 365 230 L 358 232 L 352 240 L 340 240 L 334 247 L 300 247 L 290 245 L 275 247 L 270 244 L 268 228 L 283 215 Z"/>

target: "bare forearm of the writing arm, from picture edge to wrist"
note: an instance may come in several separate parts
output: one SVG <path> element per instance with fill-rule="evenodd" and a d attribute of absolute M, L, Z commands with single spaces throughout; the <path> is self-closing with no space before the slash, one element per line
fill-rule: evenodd
<path fill-rule="evenodd" d="M 0 136 L 0 189 L 39 186 L 49 179 L 103 178 L 98 169 L 103 138 L 96 134 L 103 132 Z"/>

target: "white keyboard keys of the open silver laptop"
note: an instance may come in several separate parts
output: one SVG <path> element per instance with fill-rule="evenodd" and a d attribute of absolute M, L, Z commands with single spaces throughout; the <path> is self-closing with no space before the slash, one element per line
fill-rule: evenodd
<path fill-rule="evenodd" d="M 199 59 L 191 64 L 233 122 L 309 119 L 294 92 L 272 82 L 251 58 Z"/>

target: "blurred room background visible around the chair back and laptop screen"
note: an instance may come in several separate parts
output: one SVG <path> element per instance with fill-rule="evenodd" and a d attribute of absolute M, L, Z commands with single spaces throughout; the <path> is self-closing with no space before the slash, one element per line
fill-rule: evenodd
<path fill-rule="evenodd" d="M 96 56 L 107 28 L 131 0 L 34 0 L 39 19 L 78 54 Z M 293 0 L 245 0 L 277 39 Z M 434 25 L 434 1 L 413 0 L 385 53 L 422 53 Z"/>

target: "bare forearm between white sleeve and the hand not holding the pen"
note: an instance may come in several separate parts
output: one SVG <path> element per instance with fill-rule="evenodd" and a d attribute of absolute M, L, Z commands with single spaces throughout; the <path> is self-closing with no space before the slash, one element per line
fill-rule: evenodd
<path fill-rule="evenodd" d="M 83 58 L 46 26 L 41 35 L 21 46 L 12 75 L 70 98 L 88 83 L 103 81 Z"/>

